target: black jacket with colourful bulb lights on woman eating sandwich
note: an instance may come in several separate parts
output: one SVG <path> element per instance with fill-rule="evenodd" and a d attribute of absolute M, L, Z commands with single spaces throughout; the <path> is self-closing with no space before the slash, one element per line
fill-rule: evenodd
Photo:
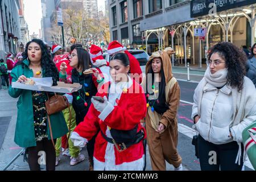
<path fill-rule="evenodd" d="M 92 96 L 96 95 L 97 88 L 93 82 L 92 74 L 79 75 L 76 69 L 73 69 L 72 71 L 72 82 L 82 85 L 82 89 L 80 89 L 79 92 L 72 93 L 72 105 L 74 107 L 74 110 L 76 111 L 76 115 L 79 115 L 79 118 L 84 118 L 91 104 L 90 99 L 92 98 Z M 89 96 L 86 96 L 85 93 L 89 93 Z M 80 97 L 80 99 L 77 99 L 77 97 Z M 85 106 L 85 102 L 88 104 L 88 106 Z"/>

